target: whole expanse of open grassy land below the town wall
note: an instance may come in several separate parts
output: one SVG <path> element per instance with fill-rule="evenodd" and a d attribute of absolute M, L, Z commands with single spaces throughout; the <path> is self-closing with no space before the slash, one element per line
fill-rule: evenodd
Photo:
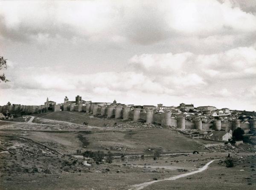
<path fill-rule="evenodd" d="M 61 116 L 60 113 L 35 116 L 33 122 L 40 124 L 0 122 L 1 190 L 136 190 L 135 184 L 193 172 L 215 159 L 220 160 L 211 163 L 202 173 L 174 181 L 159 181 L 143 189 L 256 188 L 256 147 L 252 145 L 207 149 L 204 145 L 218 142 L 191 139 L 163 128 L 104 129 L 102 122 L 108 119 L 69 112 Z M 54 119 L 55 114 L 61 120 Z M 84 118 L 92 119 L 91 124 L 98 126 L 84 127 L 80 124 Z M 119 122 L 125 123 L 121 119 Z M 78 149 L 81 152 L 111 151 L 124 154 L 125 158 L 117 156 L 112 164 L 90 161 L 91 166 L 86 166 L 82 164 L 81 155 L 74 157 Z M 157 160 L 150 156 L 129 156 L 152 155 L 156 149 L 162 153 L 181 154 L 160 156 Z M 194 150 L 201 153 L 192 154 Z M 223 162 L 227 153 L 236 160 L 232 168 L 227 168 Z"/>

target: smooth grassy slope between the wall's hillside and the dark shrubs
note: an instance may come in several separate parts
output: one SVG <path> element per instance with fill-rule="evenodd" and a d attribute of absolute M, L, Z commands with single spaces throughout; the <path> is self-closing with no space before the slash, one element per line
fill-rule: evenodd
<path fill-rule="evenodd" d="M 3 132 L 2 132 L 3 133 Z M 63 153 L 74 153 L 76 149 L 110 150 L 113 153 L 139 154 L 152 153 L 154 149 L 168 153 L 207 152 L 204 144 L 212 141 L 190 139 L 183 134 L 166 129 L 153 130 L 106 130 L 76 132 L 39 132 L 39 131 L 4 131 L 4 133 L 26 136 L 35 141 L 45 143 Z M 84 144 L 83 142 L 87 142 Z M 151 151 L 147 151 L 151 149 Z"/>

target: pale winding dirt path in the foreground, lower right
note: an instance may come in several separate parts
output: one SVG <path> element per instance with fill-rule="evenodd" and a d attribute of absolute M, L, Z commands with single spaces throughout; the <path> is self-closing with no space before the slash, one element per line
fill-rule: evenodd
<path fill-rule="evenodd" d="M 148 182 L 144 182 L 144 183 L 141 183 L 141 184 L 135 184 L 135 185 L 132 185 L 132 188 L 129 189 L 129 190 L 141 190 L 143 189 L 144 187 L 147 187 L 148 185 L 151 185 L 153 183 L 156 183 L 156 182 L 159 182 L 159 181 L 166 181 L 166 180 L 175 180 L 175 179 L 179 179 L 179 178 L 182 178 L 182 177 L 186 177 L 186 176 L 190 176 L 190 175 L 193 175 L 195 173 L 199 173 L 199 172 L 202 172 L 204 170 L 207 169 L 207 167 L 209 166 L 209 164 L 211 164 L 212 162 L 214 162 L 215 160 L 212 160 L 210 162 L 208 162 L 207 164 L 204 165 L 204 167 L 201 167 L 199 170 L 196 170 L 196 171 L 193 171 L 193 172 L 189 172 L 189 173 L 183 173 L 183 174 L 180 174 L 180 175 L 177 175 L 177 176 L 172 176 L 170 178 L 167 178 L 167 179 L 162 179 L 162 180 L 158 180 L 158 181 L 148 181 Z M 162 166 L 160 166 L 162 167 Z"/>

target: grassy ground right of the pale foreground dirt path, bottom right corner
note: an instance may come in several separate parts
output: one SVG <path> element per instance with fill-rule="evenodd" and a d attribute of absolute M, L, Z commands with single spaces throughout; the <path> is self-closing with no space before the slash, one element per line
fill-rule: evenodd
<path fill-rule="evenodd" d="M 241 158 L 241 156 L 234 156 Z M 171 190 L 171 189 L 190 189 L 190 190 L 255 190 L 256 189 L 256 156 L 243 156 L 235 167 L 227 168 L 225 164 L 213 162 L 209 168 L 193 176 L 177 179 L 175 181 L 160 181 L 152 184 L 145 190 Z"/>

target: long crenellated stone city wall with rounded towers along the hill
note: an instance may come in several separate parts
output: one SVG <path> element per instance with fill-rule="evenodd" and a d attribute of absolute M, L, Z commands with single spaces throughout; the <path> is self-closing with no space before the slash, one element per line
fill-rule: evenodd
<path fill-rule="evenodd" d="M 177 116 L 177 118 L 172 118 L 170 112 L 165 112 L 162 114 L 153 113 L 153 111 L 142 111 L 140 108 L 131 109 L 129 107 L 123 106 L 113 106 L 105 105 L 102 103 L 87 103 L 86 105 L 68 105 L 64 104 L 62 106 L 55 105 L 49 110 L 49 107 L 45 105 L 4 105 L 0 106 L 0 112 L 6 111 L 22 111 L 25 113 L 44 113 L 48 111 L 86 111 L 93 115 L 107 116 L 108 118 L 115 119 L 131 119 L 134 121 L 145 121 L 147 123 L 155 123 L 162 125 L 163 128 L 177 127 L 180 129 L 198 129 L 198 130 L 235 130 L 240 127 L 243 130 L 256 130 L 256 120 L 250 120 L 250 123 L 241 122 L 236 119 L 232 122 L 221 122 L 220 120 L 214 120 L 212 123 L 202 123 L 202 121 L 195 120 L 193 122 L 186 121 L 185 117 Z M 254 113 L 254 112 L 251 112 Z"/>

